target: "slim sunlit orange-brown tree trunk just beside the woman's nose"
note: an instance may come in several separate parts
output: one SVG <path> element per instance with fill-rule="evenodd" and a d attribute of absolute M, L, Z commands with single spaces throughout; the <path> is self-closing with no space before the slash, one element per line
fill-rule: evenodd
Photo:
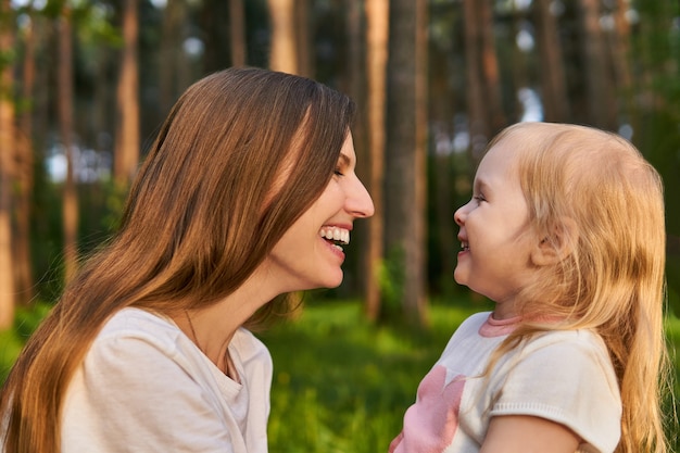
<path fill-rule="evenodd" d="M 366 72 L 368 78 L 367 122 L 369 177 L 375 214 L 368 221 L 365 299 L 366 315 L 376 320 L 380 314 L 380 265 L 385 259 L 385 151 L 387 141 L 387 64 L 390 37 L 389 0 L 366 2 Z"/>

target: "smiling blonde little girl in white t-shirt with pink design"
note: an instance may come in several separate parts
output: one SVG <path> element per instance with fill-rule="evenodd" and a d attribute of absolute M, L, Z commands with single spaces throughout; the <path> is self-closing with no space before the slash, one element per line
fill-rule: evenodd
<path fill-rule="evenodd" d="M 455 222 L 455 280 L 495 309 L 453 335 L 390 453 L 666 452 L 664 201 L 640 152 L 511 126 Z"/>

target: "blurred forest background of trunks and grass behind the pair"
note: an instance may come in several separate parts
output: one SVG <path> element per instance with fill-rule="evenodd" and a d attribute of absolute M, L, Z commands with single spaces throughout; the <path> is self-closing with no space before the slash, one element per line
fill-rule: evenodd
<path fill-rule="evenodd" d="M 0 0 L 2 375 L 115 231 L 174 101 L 235 65 L 355 99 L 357 173 L 376 204 L 343 285 L 305 294 L 297 319 L 263 334 L 277 366 L 273 452 L 386 451 L 399 433 L 457 323 L 489 306 L 453 281 L 453 212 L 512 123 L 616 131 L 659 171 L 680 344 L 677 0 Z"/>

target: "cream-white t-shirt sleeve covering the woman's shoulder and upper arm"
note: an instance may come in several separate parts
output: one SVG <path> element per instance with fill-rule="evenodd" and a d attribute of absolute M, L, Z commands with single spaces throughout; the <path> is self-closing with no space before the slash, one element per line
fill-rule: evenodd
<path fill-rule="evenodd" d="M 98 339 L 70 387 L 65 451 L 232 452 L 218 405 L 181 360 L 152 338 Z"/>

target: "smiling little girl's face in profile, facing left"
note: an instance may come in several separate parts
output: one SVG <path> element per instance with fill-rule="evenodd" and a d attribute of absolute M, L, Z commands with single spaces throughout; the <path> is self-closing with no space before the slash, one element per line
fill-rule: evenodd
<path fill-rule="evenodd" d="M 496 302 L 496 318 L 517 314 L 514 299 L 531 274 L 530 252 L 536 243 L 513 165 L 519 146 L 507 137 L 484 155 L 471 200 L 454 214 L 462 247 L 454 278 Z"/>

